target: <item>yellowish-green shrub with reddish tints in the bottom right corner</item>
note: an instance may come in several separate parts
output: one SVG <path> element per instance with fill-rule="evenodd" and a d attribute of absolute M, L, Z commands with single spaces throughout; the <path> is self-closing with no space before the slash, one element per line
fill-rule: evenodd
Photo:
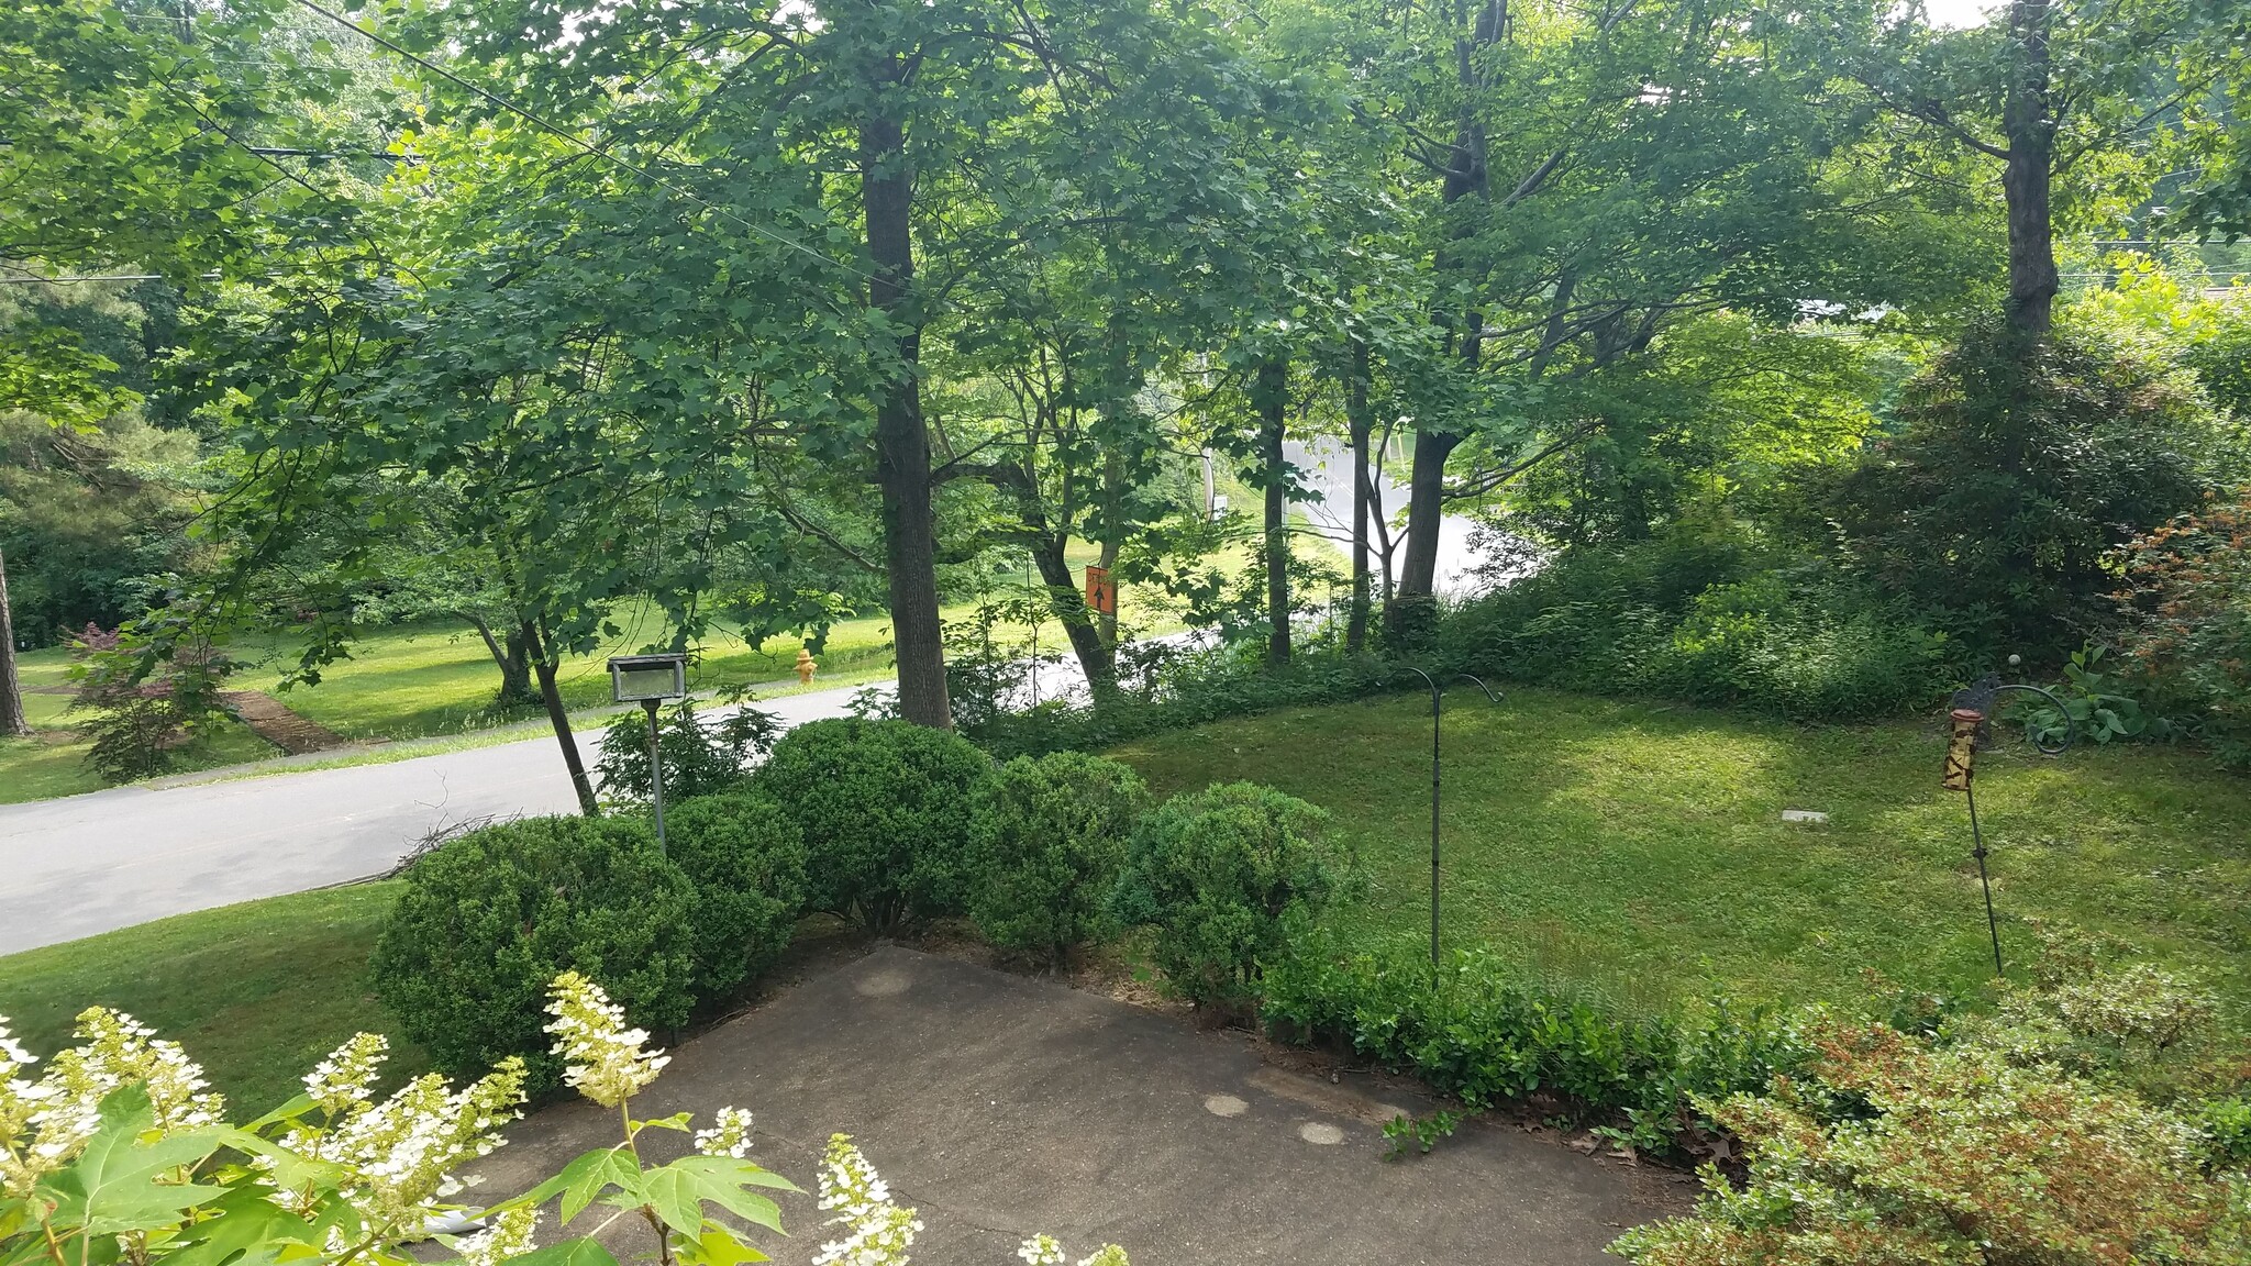
<path fill-rule="evenodd" d="M 1636 1266 L 2177 1261 L 2251 1252 L 2242 1171 L 2132 1095 L 1983 1043 L 1823 1023 L 1803 1081 L 1702 1106 L 1749 1147 L 1691 1219 L 1612 1246 Z M 1850 1111 L 1839 1111 L 1848 1104 Z"/>

